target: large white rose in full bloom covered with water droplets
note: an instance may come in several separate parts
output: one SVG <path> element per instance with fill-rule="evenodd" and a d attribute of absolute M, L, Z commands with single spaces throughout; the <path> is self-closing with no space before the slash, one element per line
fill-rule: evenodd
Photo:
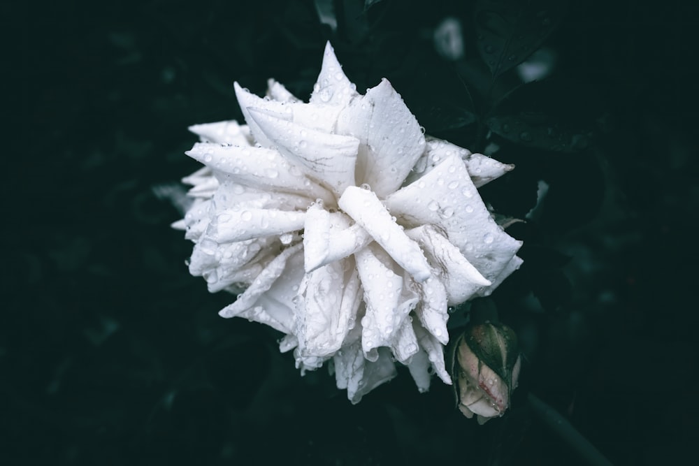
<path fill-rule="evenodd" d="M 235 84 L 247 126 L 190 128 L 189 271 L 240 293 L 220 314 L 280 330 L 302 373 L 330 360 L 352 402 L 396 361 L 420 391 L 451 384 L 447 307 L 521 264 L 476 190 L 512 166 L 425 138 L 388 80 L 358 94 L 330 44 L 310 103 L 268 84 Z"/>

